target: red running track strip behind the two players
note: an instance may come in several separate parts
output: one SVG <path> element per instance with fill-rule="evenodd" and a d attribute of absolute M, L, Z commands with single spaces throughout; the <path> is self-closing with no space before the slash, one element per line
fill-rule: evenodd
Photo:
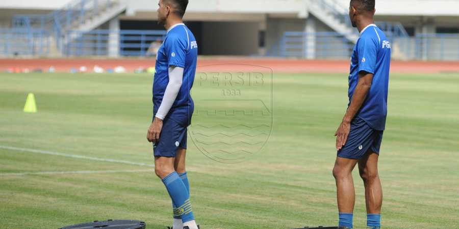
<path fill-rule="evenodd" d="M 226 72 L 243 71 L 241 67 L 235 68 L 231 64 L 263 66 L 272 69 L 274 73 L 347 73 L 349 71 L 349 61 L 309 61 L 279 58 L 198 58 L 198 67 L 218 65 L 206 68 L 206 70 L 215 69 L 215 71 Z M 145 69 L 154 67 L 155 59 L 2 59 L 0 60 L 0 72 L 5 72 L 9 68 L 27 68 L 30 71 L 40 68 L 46 71 L 50 66 L 54 66 L 57 72 L 68 72 L 72 68 L 78 70 L 81 66 L 86 66 L 88 72 L 92 72 L 94 65 L 98 65 L 105 70 L 122 66 L 127 72 L 134 72 L 139 67 Z M 392 61 L 391 72 L 459 73 L 459 62 Z"/>

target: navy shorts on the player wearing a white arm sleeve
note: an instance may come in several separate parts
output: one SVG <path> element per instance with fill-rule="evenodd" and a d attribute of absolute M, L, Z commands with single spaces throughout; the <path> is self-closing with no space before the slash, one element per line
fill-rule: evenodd
<path fill-rule="evenodd" d="M 161 157 L 177 156 L 179 147 L 187 149 L 187 133 L 187 128 L 179 125 L 174 120 L 163 120 L 160 140 L 156 145 L 153 144 L 154 155 Z"/>

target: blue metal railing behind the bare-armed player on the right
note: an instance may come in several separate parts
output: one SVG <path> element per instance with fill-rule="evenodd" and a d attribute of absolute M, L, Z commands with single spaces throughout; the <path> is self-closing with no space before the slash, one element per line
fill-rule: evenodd
<path fill-rule="evenodd" d="M 459 34 L 418 34 L 415 37 L 385 32 L 392 56 L 399 60 L 459 60 Z M 336 32 L 285 32 L 268 51 L 268 56 L 310 59 L 348 59 L 354 44 Z"/>

